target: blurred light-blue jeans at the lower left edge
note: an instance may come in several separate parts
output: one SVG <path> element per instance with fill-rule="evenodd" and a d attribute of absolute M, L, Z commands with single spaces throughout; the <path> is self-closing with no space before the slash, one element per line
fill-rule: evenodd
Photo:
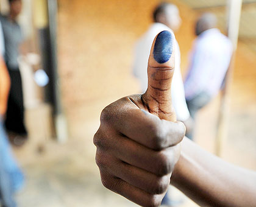
<path fill-rule="evenodd" d="M 21 189 L 23 184 L 24 175 L 12 155 L 0 117 L 0 203 L 6 207 L 16 206 L 13 194 Z"/>

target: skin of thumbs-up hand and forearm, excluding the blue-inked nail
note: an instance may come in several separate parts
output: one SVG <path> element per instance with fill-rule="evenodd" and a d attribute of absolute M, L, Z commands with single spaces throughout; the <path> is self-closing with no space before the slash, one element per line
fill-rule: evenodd
<path fill-rule="evenodd" d="M 141 206 L 160 206 L 170 183 L 201 206 L 256 206 L 255 172 L 183 139 L 185 127 L 176 122 L 170 95 L 174 54 L 162 64 L 153 56 L 151 49 L 146 93 L 102 111 L 94 135 L 102 184 Z"/>

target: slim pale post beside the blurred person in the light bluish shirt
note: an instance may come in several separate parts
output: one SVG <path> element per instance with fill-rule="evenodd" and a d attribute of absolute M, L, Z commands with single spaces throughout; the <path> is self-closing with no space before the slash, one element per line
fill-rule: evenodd
<path fill-rule="evenodd" d="M 225 77 L 225 86 L 221 91 L 221 105 L 219 108 L 217 136 L 215 143 L 215 153 L 218 156 L 221 156 L 222 143 L 224 139 L 226 139 L 227 137 L 230 99 L 229 90 L 233 77 L 235 51 L 238 41 L 242 2 L 242 0 L 227 0 L 227 34 L 233 44 L 233 55 L 230 60 L 230 66 L 229 69 L 227 70 L 227 74 Z"/>

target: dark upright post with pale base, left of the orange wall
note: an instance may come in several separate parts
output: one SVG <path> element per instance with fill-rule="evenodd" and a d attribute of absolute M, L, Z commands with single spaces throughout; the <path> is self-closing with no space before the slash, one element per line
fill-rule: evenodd
<path fill-rule="evenodd" d="M 53 108 L 54 127 L 57 140 L 68 139 L 67 124 L 60 98 L 59 74 L 57 72 L 57 0 L 34 0 L 35 26 L 41 45 L 43 68 L 49 76 L 46 86 L 46 102 Z"/>

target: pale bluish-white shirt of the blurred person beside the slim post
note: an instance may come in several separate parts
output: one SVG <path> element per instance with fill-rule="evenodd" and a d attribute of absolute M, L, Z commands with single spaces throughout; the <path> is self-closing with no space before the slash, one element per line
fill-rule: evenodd
<path fill-rule="evenodd" d="M 194 41 L 190 68 L 185 79 L 187 100 L 205 92 L 214 97 L 221 88 L 232 57 L 232 43 L 218 29 L 208 29 Z"/>

